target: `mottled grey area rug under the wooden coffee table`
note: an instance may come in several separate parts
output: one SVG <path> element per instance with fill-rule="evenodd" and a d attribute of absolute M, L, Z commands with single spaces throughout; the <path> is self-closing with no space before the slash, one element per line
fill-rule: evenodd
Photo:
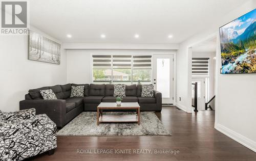
<path fill-rule="evenodd" d="M 110 113 L 123 114 L 108 112 Z M 134 113 L 126 112 L 125 114 Z M 170 136 L 168 130 L 153 112 L 141 112 L 140 125 L 137 123 L 100 123 L 97 126 L 96 118 L 96 112 L 82 112 L 60 129 L 57 136 Z"/>

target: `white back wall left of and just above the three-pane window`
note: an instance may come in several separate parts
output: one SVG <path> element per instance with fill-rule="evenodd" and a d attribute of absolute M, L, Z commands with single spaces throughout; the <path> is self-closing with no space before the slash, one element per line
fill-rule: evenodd
<path fill-rule="evenodd" d="M 158 54 L 176 50 L 67 49 L 67 82 L 91 83 L 91 54 Z"/>

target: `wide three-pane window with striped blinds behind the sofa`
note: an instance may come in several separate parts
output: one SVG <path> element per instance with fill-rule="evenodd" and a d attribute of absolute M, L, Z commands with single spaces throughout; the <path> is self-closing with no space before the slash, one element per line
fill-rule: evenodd
<path fill-rule="evenodd" d="M 151 57 L 93 55 L 93 83 L 149 84 Z"/>

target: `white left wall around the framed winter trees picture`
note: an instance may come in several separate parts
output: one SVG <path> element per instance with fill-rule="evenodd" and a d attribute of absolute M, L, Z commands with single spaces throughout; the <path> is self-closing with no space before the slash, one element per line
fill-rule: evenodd
<path fill-rule="evenodd" d="M 31 30 L 51 38 L 35 28 Z M 0 36 L 0 110 L 19 110 L 19 101 L 25 98 L 29 89 L 66 82 L 67 55 L 64 49 L 61 50 L 60 65 L 30 61 L 28 36 Z"/>

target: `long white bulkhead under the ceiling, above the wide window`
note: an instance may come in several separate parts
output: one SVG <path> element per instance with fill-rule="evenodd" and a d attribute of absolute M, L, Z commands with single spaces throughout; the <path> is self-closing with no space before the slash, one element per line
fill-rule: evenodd
<path fill-rule="evenodd" d="M 178 50 L 179 44 L 158 43 L 63 43 L 64 49 L 159 49 Z"/>

